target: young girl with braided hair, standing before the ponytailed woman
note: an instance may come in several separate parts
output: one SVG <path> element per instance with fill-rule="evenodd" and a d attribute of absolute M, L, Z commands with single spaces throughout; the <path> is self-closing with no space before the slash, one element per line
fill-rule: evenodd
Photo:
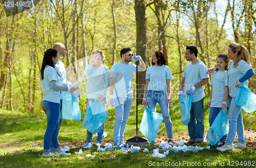
<path fill-rule="evenodd" d="M 209 124 L 210 126 L 214 122 L 217 115 L 224 108 L 230 106 L 228 99 L 228 57 L 225 54 L 220 54 L 217 57 L 217 67 L 219 71 L 212 75 L 210 85 L 212 86 L 210 92 L 210 98 L 208 101 L 209 113 Z M 224 135 L 220 141 L 213 147 L 221 147 L 226 143 L 227 134 Z"/>

